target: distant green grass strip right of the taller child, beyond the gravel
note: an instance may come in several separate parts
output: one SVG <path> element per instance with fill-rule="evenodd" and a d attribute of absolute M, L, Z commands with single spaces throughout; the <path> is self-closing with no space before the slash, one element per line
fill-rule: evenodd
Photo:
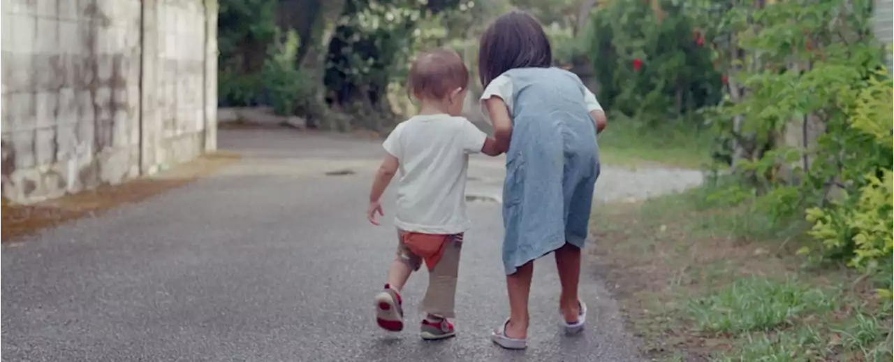
<path fill-rule="evenodd" d="M 669 125 L 645 127 L 623 116 L 612 115 L 599 136 L 603 164 L 637 167 L 664 164 L 689 169 L 711 164 L 711 139 L 706 131 Z"/>

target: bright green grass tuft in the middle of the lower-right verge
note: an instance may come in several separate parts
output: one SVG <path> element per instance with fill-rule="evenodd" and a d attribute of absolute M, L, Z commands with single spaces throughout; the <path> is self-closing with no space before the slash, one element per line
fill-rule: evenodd
<path fill-rule="evenodd" d="M 688 311 L 708 333 L 769 331 L 791 324 L 795 317 L 830 310 L 837 302 L 819 289 L 796 282 L 744 278 L 689 303 Z"/>

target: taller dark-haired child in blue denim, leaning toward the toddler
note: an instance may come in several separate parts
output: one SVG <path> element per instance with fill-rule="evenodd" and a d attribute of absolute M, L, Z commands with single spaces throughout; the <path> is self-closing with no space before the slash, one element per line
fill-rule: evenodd
<path fill-rule="evenodd" d="M 555 253 L 561 324 L 578 333 L 586 304 L 578 299 L 581 248 L 587 235 L 605 115 L 596 97 L 567 71 L 552 67 L 541 25 L 527 13 L 502 15 L 485 31 L 478 55 L 485 114 L 506 151 L 502 259 L 510 317 L 493 332 L 507 349 L 527 347 L 527 300 L 534 260 Z"/>

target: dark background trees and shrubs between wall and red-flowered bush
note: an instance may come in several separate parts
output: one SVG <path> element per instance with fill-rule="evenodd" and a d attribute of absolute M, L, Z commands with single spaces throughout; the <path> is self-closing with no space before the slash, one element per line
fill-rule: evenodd
<path fill-rule="evenodd" d="M 325 114 L 327 120 L 309 124 L 337 123 L 339 130 L 356 127 L 387 130 L 393 124 L 395 112 L 413 109 L 401 89 L 414 55 L 433 47 L 449 47 L 463 55 L 474 73 L 479 34 L 493 17 L 518 5 L 536 13 L 547 24 L 555 24 L 547 29 L 557 45 L 557 57 L 570 59 L 582 53 L 581 43 L 574 36 L 595 1 L 563 0 L 560 4 L 552 0 L 296 0 L 287 5 L 279 3 L 283 2 L 222 1 L 220 103 L 273 105 L 281 114 L 321 117 Z M 294 57 L 297 67 L 283 59 L 291 57 L 287 55 L 291 51 L 283 50 L 283 34 L 292 30 L 303 40 Z M 477 82 L 472 86 L 477 88 Z M 328 112 L 326 105 L 334 113 Z M 362 116 L 366 114 L 376 116 Z"/>

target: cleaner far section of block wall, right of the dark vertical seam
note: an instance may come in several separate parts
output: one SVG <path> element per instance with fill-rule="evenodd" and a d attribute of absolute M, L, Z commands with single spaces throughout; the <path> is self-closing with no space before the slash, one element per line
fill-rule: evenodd
<path fill-rule="evenodd" d="M 198 156 L 207 149 L 207 22 L 205 0 L 144 0 L 144 38 L 155 49 L 144 67 L 155 73 L 146 84 L 152 120 L 144 128 L 148 173 Z M 216 14 L 216 8 L 215 8 Z M 216 17 L 214 17 L 216 19 Z M 215 25 L 216 27 L 216 25 Z M 216 31 L 214 42 L 216 44 Z M 216 46 L 214 61 L 216 62 Z M 215 66 L 216 77 L 216 66 Z M 214 83 L 216 84 L 216 82 Z M 216 89 L 216 85 L 213 87 Z M 215 95 L 216 97 L 216 95 Z M 216 99 L 211 105 L 216 107 Z M 213 124 L 213 123 L 212 123 Z M 211 127 L 213 128 L 213 127 Z"/>

